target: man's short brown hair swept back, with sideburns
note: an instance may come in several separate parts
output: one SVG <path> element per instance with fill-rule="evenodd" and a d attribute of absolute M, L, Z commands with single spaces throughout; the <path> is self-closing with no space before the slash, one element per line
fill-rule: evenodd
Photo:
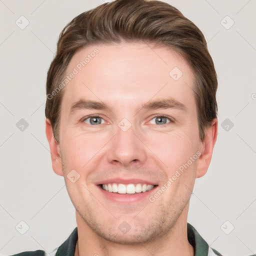
<path fill-rule="evenodd" d="M 199 28 L 175 7 L 157 0 L 115 0 L 85 11 L 61 31 L 57 52 L 46 81 L 45 116 L 59 142 L 59 118 L 63 89 L 52 97 L 63 80 L 69 61 L 81 47 L 99 43 L 143 41 L 168 46 L 188 62 L 195 76 L 199 137 L 217 114 L 217 76 L 207 44 Z M 48 95 L 51 95 L 49 98 Z"/>

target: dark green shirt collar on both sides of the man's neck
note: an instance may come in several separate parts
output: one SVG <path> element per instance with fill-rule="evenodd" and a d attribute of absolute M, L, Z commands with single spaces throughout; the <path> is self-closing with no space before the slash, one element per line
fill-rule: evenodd
<path fill-rule="evenodd" d="M 77 227 L 69 237 L 57 248 L 55 256 L 74 256 L 75 245 L 78 239 Z M 196 229 L 187 223 L 187 239 L 194 248 L 194 256 L 208 256 L 213 252 L 207 242 L 199 235 Z M 215 253 L 212 255 L 216 255 Z M 220 254 L 219 254 L 220 255 Z"/>

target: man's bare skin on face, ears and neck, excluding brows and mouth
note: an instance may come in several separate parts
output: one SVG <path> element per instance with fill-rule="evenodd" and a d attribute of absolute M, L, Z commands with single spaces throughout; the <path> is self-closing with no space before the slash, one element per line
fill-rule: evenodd
<path fill-rule="evenodd" d="M 195 178 L 208 169 L 217 120 L 200 141 L 191 89 L 194 75 L 174 50 L 143 42 L 90 45 L 74 54 L 66 73 L 94 48 L 99 52 L 64 87 L 59 143 L 46 119 L 52 168 L 64 176 L 75 207 L 75 253 L 193 255 L 186 229 L 189 198 Z M 169 75 L 173 67 L 183 73 L 176 81 Z M 166 97 L 182 103 L 185 110 L 141 108 L 149 100 Z M 70 114 L 70 107 L 80 99 L 104 102 L 108 108 L 81 108 Z M 100 124 L 90 124 L 87 116 L 92 114 L 102 117 Z M 162 115 L 170 118 L 163 119 L 165 124 L 154 118 Z M 124 117 L 131 124 L 127 131 L 118 126 Z M 197 151 L 201 153 L 197 160 L 154 202 L 148 197 L 136 203 L 116 202 L 95 185 L 102 179 L 120 177 L 147 179 L 161 187 Z M 67 178 L 72 169 L 80 175 L 74 183 Z M 149 191 L 149 195 L 155 192 Z M 125 234 L 118 228 L 123 221 L 131 227 Z"/>

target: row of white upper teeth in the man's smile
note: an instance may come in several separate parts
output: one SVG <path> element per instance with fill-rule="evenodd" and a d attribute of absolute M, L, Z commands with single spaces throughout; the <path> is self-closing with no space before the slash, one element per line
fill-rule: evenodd
<path fill-rule="evenodd" d="M 108 183 L 102 184 L 102 189 L 119 194 L 134 194 L 141 193 L 145 191 L 149 191 L 154 187 L 154 185 L 148 184 L 116 184 L 116 183 Z"/>

